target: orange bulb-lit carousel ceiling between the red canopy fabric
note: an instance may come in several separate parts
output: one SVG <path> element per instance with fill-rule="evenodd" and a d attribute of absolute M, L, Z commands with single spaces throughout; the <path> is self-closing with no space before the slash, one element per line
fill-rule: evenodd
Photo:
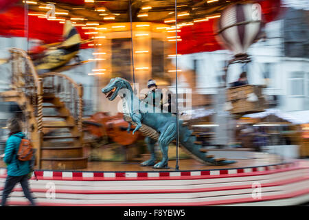
<path fill-rule="evenodd" d="M 88 0 L 90 1 L 90 0 Z M 219 13 L 227 5 L 236 3 L 242 0 L 234 1 L 210 1 L 206 0 L 177 0 L 177 14 L 181 21 L 193 21 L 193 19 L 200 19 L 211 14 Z M 104 22 L 104 17 L 115 17 L 113 22 L 124 22 L 130 19 L 130 9 L 133 21 L 152 21 L 163 22 L 162 19 L 174 18 L 175 1 L 144 1 L 144 0 L 111 0 L 111 1 L 94 1 L 85 2 L 84 0 L 58 0 L 58 1 L 36 1 L 36 4 L 30 4 L 30 10 L 36 12 L 46 12 L 48 9 L 44 8 L 48 3 L 54 3 L 56 10 L 66 10 L 70 13 L 68 16 L 80 16 L 84 19 L 98 22 Z M 131 7 L 129 3 L 131 2 Z M 147 14 L 146 16 L 140 16 Z M 183 16 L 183 14 L 189 14 Z"/>

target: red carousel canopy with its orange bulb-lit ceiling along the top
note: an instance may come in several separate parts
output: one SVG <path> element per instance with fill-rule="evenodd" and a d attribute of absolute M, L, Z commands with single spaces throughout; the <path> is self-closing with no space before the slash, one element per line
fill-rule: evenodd
<path fill-rule="evenodd" d="M 27 2 L 28 11 L 25 10 L 23 2 Z M 130 2 L 132 2 L 131 5 L 129 5 Z M 216 27 L 222 10 L 239 2 L 247 1 L 177 0 L 177 25 L 181 28 L 179 36 L 183 39 L 177 46 L 179 54 L 223 49 L 216 41 L 214 27 Z M 267 17 L 266 22 L 277 18 L 280 0 L 255 0 L 253 2 L 260 3 L 262 6 L 262 14 Z M 54 6 L 51 6 L 51 3 Z M 53 8 L 55 17 L 46 19 L 48 12 L 53 15 L 51 12 Z M 274 8 L 276 10 L 273 10 Z M 65 19 L 71 19 L 78 28 L 82 39 L 89 39 L 91 36 L 85 34 L 89 30 L 82 29 L 89 27 L 89 23 L 101 25 L 132 20 L 133 22 L 146 21 L 175 25 L 174 12 L 174 0 L 0 0 L 0 35 L 29 36 L 31 39 L 39 39 L 44 43 L 54 43 L 61 40 Z M 27 20 L 25 15 L 28 15 Z"/>

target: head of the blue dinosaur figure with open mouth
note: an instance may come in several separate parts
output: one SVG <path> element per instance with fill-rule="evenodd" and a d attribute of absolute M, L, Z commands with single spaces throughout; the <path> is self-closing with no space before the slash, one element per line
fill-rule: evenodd
<path fill-rule="evenodd" d="M 116 98 L 120 89 L 130 89 L 130 83 L 120 77 L 112 78 L 108 85 L 102 89 L 102 93 L 108 100 L 112 101 Z"/>

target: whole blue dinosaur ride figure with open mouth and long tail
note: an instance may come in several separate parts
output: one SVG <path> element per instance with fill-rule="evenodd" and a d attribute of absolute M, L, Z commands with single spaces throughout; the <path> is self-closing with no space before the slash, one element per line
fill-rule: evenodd
<path fill-rule="evenodd" d="M 128 130 L 133 124 L 135 131 L 139 130 L 146 136 L 146 143 L 150 151 L 150 159 L 142 162 L 141 166 L 153 166 L 153 168 L 168 167 L 168 145 L 176 140 L 176 115 L 168 112 L 161 112 L 161 109 L 155 109 L 133 94 L 130 83 L 124 78 L 112 78 L 111 81 L 102 89 L 108 100 L 114 100 L 116 96 L 122 98 L 124 109 L 124 120 L 129 122 Z M 156 164 L 155 143 L 159 142 L 162 153 L 162 160 Z M 183 150 L 197 159 L 199 162 L 207 165 L 227 165 L 235 161 L 226 159 L 215 159 L 207 155 L 207 151 L 197 144 L 196 137 L 192 131 L 187 128 L 183 120 L 179 120 L 179 142 Z"/>

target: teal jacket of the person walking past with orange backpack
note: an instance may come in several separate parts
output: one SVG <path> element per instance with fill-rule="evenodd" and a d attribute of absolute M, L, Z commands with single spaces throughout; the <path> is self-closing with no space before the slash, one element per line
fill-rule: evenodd
<path fill-rule="evenodd" d="M 19 151 L 19 144 L 25 135 L 21 132 L 10 135 L 5 143 L 4 162 L 8 165 L 8 175 L 17 177 L 30 173 L 30 162 L 20 161 L 17 159 L 17 152 Z"/>

